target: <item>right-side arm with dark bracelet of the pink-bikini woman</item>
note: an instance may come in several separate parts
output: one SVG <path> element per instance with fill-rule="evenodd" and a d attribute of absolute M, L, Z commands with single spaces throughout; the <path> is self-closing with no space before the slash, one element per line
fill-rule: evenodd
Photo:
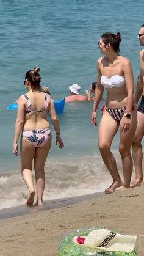
<path fill-rule="evenodd" d="M 59 142 L 59 148 L 62 148 L 64 147 L 64 144 L 62 142 L 62 139 L 60 137 L 60 126 L 59 126 L 59 119 L 57 117 L 57 114 L 56 114 L 56 111 L 55 111 L 55 108 L 54 108 L 54 102 L 52 101 L 52 99 L 49 97 L 49 102 L 50 102 L 50 105 L 49 105 L 49 115 L 51 117 L 51 121 L 54 125 L 54 130 L 56 131 L 56 145 L 57 145 L 57 142 Z"/>

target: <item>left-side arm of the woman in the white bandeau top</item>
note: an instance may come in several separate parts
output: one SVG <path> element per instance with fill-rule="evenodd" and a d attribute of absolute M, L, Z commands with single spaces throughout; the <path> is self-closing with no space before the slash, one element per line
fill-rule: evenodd
<path fill-rule="evenodd" d="M 101 101 L 104 87 L 101 85 L 101 70 L 100 70 L 100 65 L 101 65 L 101 58 L 98 59 L 98 64 L 97 64 L 97 71 L 98 71 L 98 79 L 97 79 L 97 84 L 96 84 L 96 89 L 95 89 L 95 95 L 94 95 L 94 100 L 93 100 L 93 108 L 92 108 L 92 116 L 91 116 L 91 123 L 93 126 L 96 126 L 96 110 L 98 108 L 98 104 Z"/>

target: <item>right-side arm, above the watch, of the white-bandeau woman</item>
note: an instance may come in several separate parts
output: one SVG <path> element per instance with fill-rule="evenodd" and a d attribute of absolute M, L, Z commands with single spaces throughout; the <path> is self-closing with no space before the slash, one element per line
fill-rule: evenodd
<path fill-rule="evenodd" d="M 132 103 L 134 102 L 134 76 L 132 73 L 131 62 L 124 58 L 123 73 L 126 82 L 126 90 L 128 93 L 127 103 L 126 103 L 126 114 L 131 114 Z"/>

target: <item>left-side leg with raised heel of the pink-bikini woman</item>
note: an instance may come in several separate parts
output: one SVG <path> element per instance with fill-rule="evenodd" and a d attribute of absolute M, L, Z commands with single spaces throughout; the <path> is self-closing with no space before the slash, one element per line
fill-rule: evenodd
<path fill-rule="evenodd" d="M 32 179 L 32 159 L 35 155 L 35 147 L 26 138 L 22 137 L 20 145 L 21 154 L 21 174 L 24 182 L 29 189 L 29 199 L 27 199 L 27 205 L 31 206 L 34 202 L 35 189 Z"/>

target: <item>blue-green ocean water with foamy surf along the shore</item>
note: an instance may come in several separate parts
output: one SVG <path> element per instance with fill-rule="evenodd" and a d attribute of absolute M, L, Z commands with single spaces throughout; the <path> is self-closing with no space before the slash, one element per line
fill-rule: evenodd
<path fill-rule="evenodd" d="M 16 111 L 6 110 L 26 92 L 26 71 L 40 67 L 41 85 L 49 86 L 54 100 L 67 96 L 68 86 L 74 83 L 81 85 L 85 94 L 90 83 L 96 81 L 99 38 L 111 31 L 121 33 L 120 53 L 131 60 L 136 83 L 141 49 L 137 33 L 144 23 L 142 7 L 142 0 L 1 1 L 0 208 L 23 204 L 27 197 L 20 158 L 12 154 Z M 45 200 L 99 192 L 110 184 L 99 155 L 98 127 L 90 125 L 91 111 L 90 102 L 65 104 L 64 112 L 59 114 L 65 144 L 62 150 L 54 145 L 51 126 Z M 112 150 L 121 172 L 118 134 Z"/>

